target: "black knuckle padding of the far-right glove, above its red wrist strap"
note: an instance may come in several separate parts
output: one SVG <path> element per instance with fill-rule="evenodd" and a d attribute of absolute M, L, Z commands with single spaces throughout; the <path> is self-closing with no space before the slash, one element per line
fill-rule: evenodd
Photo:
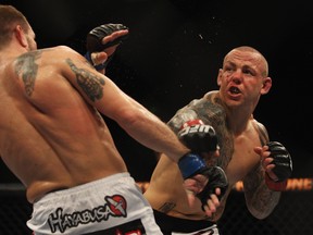
<path fill-rule="evenodd" d="M 292 162 L 288 150 L 277 141 L 271 141 L 267 146 L 271 151 L 270 157 L 273 158 L 272 163 L 275 164 L 273 172 L 278 177 L 278 182 L 286 181 L 292 172 Z"/>

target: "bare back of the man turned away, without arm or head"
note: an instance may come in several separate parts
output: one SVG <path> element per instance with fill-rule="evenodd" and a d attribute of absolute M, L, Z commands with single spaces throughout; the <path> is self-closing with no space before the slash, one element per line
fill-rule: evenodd
<path fill-rule="evenodd" d="M 64 77 L 66 53 L 57 48 L 28 67 L 0 66 L 0 156 L 30 202 L 127 170 L 101 115 Z"/>

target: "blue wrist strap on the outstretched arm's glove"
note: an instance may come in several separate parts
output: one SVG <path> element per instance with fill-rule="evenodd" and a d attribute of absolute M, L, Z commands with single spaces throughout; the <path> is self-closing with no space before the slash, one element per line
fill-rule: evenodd
<path fill-rule="evenodd" d="M 184 180 L 186 180 L 191 175 L 195 175 L 200 170 L 205 169 L 206 164 L 199 154 L 189 152 L 179 159 L 178 166 L 183 174 Z"/>

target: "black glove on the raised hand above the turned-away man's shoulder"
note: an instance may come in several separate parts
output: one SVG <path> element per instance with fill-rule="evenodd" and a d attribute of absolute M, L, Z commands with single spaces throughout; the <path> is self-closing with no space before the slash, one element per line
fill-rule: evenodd
<path fill-rule="evenodd" d="M 104 44 L 104 45 L 102 44 L 102 39 L 111 35 L 114 32 L 123 30 L 123 29 L 128 29 L 128 28 L 124 26 L 123 24 L 103 24 L 90 30 L 86 38 L 87 53 L 85 54 L 85 58 L 91 64 L 93 64 L 91 60 L 92 52 L 103 51 L 104 49 L 109 47 L 121 44 L 128 36 L 128 34 L 121 36 L 120 38 L 116 38 L 115 40 L 109 41 L 108 44 Z M 104 70 L 108 63 L 111 61 L 112 57 L 113 54 L 111 54 L 104 63 L 96 65 L 95 69 L 97 71 Z"/>

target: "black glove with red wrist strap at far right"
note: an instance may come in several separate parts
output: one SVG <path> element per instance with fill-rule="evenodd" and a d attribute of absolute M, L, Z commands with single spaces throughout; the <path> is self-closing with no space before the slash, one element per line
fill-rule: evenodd
<path fill-rule="evenodd" d="M 284 190 L 287 186 L 287 180 L 292 173 L 292 160 L 288 150 L 278 141 L 270 141 L 267 144 L 268 151 L 271 151 L 271 158 L 273 158 L 272 164 L 275 164 L 273 169 L 274 174 L 277 176 L 277 181 L 273 181 L 270 176 L 265 175 L 265 182 L 272 190 Z"/>

